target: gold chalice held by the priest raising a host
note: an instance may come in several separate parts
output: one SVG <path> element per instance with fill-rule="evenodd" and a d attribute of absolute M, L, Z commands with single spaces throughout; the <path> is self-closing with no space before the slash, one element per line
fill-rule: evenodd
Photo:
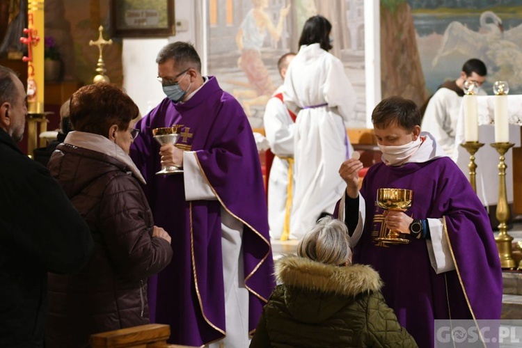
<path fill-rule="evenodd" d="M 405 212 L 411 207 L 413 191 L 408 189 L 378 189 L 377 205 L 386 210 L 397 210 Z M 409 240 L 400 237 L 400 232 L 390 230 L 386 237 L 379 237 L 375 240 L 388 244 L 407 244 Z"/>

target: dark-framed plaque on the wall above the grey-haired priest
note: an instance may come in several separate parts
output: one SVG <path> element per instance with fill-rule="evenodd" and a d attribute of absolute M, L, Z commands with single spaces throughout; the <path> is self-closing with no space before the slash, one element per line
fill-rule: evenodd
<path fill-rule="evenodd" d="M 175 34 L 173 0 L 111 0 L 114 36 L 166 37 Z"/>

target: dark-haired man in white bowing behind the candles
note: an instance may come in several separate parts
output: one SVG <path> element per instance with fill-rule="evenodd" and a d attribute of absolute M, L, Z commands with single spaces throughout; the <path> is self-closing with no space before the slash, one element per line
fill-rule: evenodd
<path fill-rule="evenodd" d="M 429 129 L 449 156 L 452 156 L 455 150 L 455 133 L 464 97 L 464 82 L 475 82 L 480 87 L 486 81 L 486 75 L 486 65 L 479 59 L 472 58 L 464 63 L 458 79 L 443 83 L 427 102 L 422 129 Z M 479 90 L 479 94 L 486 95 L 482 89 Z"/>

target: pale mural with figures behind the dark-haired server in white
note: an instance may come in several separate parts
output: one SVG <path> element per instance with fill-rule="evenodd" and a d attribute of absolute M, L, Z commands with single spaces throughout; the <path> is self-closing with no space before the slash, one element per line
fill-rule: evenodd
<path fill-rule="evenodd" d="M 365 127 L 363 0 L 201 0 L 207 11 L 207 72 L 242 104 L 252 127 L 283 83 L 277 61 L 297 52 L 308 17 L 331 22 L 331 53 L 345 63 L 358 105 L 350 127 Z"/>

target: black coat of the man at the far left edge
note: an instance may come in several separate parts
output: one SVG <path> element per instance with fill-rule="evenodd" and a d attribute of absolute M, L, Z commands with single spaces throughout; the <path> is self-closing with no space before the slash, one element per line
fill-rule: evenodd
<path fill-rule="evenodd" d="M 43 347 L 47 272 L 79 271 L 92 249 L 60 185 L 0 129 L 0 347 Z"/>

